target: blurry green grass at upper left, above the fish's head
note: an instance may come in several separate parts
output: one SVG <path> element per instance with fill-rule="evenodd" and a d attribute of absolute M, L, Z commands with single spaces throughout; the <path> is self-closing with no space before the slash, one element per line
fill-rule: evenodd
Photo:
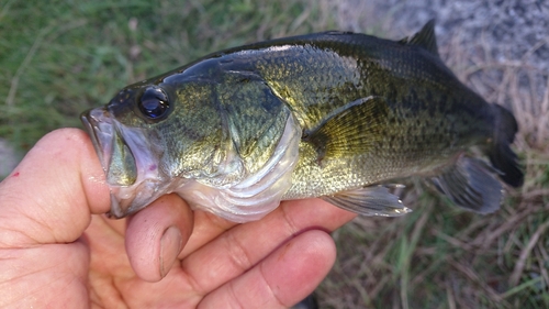
<path fill-rule="evenodd" d="M 221 48 L 334 26 L 306 1 L 35 0 L 0 10 L 0 136 L 22 151 L 78 126 L 81 111 L 131 82 Z"/>

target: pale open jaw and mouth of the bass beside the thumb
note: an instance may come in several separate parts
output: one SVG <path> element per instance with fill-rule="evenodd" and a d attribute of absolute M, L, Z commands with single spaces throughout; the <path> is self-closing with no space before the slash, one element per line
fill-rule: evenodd
<path fill-rule="evenodd" d="M 123 125 L 103 108 L 82 113 L 81 121 L 105 173 L 110 217 L 132 214 L 183 185 L 184 179 L 169 179 L 161 172 L 161 147 L 144 130 Z"/>

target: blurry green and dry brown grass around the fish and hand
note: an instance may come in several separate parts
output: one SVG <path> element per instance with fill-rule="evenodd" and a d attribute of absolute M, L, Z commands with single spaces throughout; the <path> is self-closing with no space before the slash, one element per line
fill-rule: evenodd
<path fill-rule="evenodd" d="M 80 126 L 81 111 L 131 82 L 221 48 L 337 29 L 340 19 L 328 1 L 261 2 L 2 2 L 0 137 L 24 153 L 51 130 Z M 390 18 L 366 30 L 382 35 Z M 440 54 L 475 91 L 513 109 L 525 186 L 482 217 L 411 181 L 402 195 L 414 212 L 358 218 L 334 233 L 323 308 L 549 307 L 549 87 L 533 82 L 547 73 L 492 59 L 482 42 L 471 54 L 467 43 L 456 37 Z"/>

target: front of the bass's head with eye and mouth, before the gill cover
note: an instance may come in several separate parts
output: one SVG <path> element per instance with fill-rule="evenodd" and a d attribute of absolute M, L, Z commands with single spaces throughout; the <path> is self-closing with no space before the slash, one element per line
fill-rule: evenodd
<path fill-rule="evenodd" d="M 215 165 L 213 140 L 223 133 L 201 89 L 193 81 L 143 81 L 81 114 L 111 190 L 111 217 L 134 213 L 193 174 L 211 172 L 204 166 Z"/>

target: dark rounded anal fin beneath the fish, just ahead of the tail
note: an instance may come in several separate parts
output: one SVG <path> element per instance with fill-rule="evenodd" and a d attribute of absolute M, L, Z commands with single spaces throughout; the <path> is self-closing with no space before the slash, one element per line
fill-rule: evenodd
<path fill-rule="evenodd" d="M 457 206 L 491 213 L 500 209 L 503 199 L 503 187 L 496 175 L 497 172 L 483 161 L 461 156 L 441 175 L 433 177 L 433 183 Z"/>

